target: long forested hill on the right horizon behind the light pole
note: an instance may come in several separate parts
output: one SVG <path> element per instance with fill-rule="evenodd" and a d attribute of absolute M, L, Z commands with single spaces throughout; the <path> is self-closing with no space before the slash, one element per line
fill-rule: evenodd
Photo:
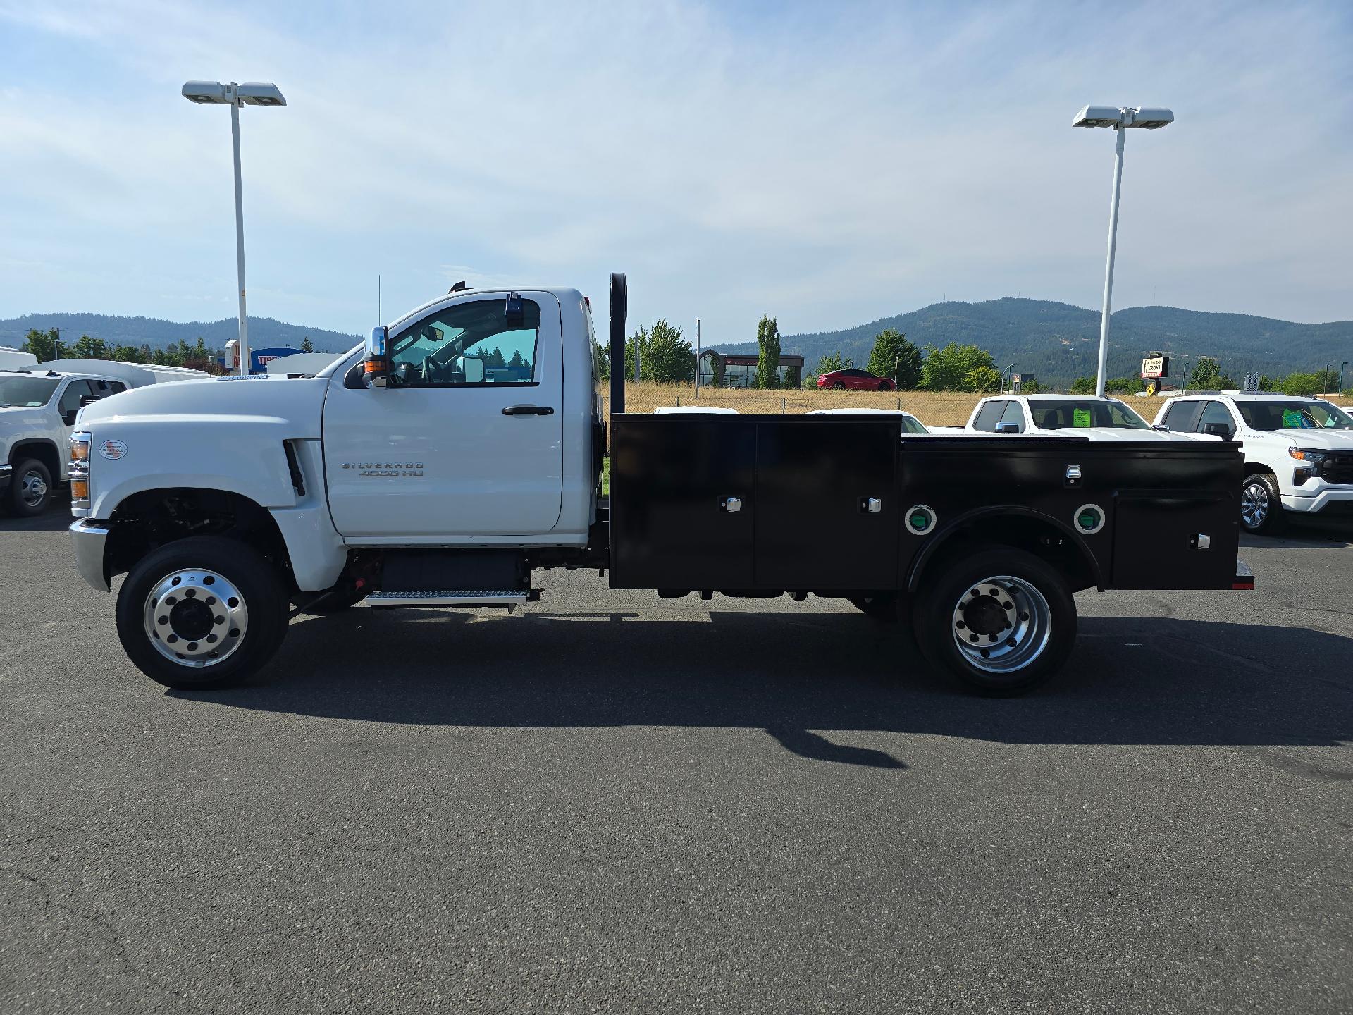
<path fill-rule="evenodd" d="M 896 328 L 919 346 L 980 345 L 996 357 L 999 368 L 1019 363 L 1019 372 L 1047 380 L 1072 380 L 1095 374 L 1099 326 L 1097 310 L 1007 296 L 985 303 L 934 303 L 842 332 L 786 334 L 781 348 L 802 355 L 808 369 L 817 365 L 820 356 L 838 351 L 863 367 L 874 336 L 885 328 Z M 755 353 L 756 342 L 714 348 Z M 1138 374 L 1142 356 L 1157 349 L 1184 357 L 1189 365 L 1199 356 L 1215 356 L 1234 378 L 1249 371 L 1280 375 L 1331 364 L 1338 369 L 1342 360 L 1353 360 L 1353 321 L 1299 325 L 1178 307 L 1128 307 L 1114 314 L 1109 376 Z M 1176 372 L 1172 368 L 1170 374 Z"/>

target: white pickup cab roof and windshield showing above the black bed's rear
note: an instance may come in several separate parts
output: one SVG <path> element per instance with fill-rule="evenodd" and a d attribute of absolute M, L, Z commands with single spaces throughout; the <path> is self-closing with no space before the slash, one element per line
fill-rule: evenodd
<path fill-rule="evenodd" d="M 965 433 L 1076 434 L 1092 441 L 1166 441 L 1126 402 L 1097 395 L 993 395 L 973 409 Z"/>

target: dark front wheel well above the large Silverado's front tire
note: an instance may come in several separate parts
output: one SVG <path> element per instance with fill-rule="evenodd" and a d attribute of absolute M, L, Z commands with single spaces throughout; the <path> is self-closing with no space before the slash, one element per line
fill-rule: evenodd
<path fill-rule="evenodd" d="M 291 578 L 281 529 L 265 508 L 229 490 L 168 487 L 131 494 L 108 518 L 104 567 L 111 578 L 130 571 L 152 549 L 188 536 L 225 536 L 246 543 Z"/>

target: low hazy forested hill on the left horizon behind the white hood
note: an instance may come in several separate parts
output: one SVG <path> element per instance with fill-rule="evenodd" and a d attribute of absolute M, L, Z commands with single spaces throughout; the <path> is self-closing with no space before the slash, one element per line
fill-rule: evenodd
<path fill-rule="evenodd" d="M 0 345 L 18 348 L 30 330 L 46 332 L 61 329 L 62 344 L 74 342 L 81 334 L 103 338 L 114 345 L 149 345 L 164 349 L 176 345 L 183 338 L 189 345 L 200 337 L 211 349 L 223 349 L 226 342 L 239 336 L 237 318 L 225 321 L 161 321 L 154 317 L 112 317 L 110 314 L 26 314 L 9 321 L 0 321 Z M 271 317 L 249 318 L 249 345 L 254 349 L 288 345 L 300 348 L 306 338 L 315 352 L 344 352 L 361 341 L 360 336 L 327 332 L 323 328 L 303 328 L 273 321 Z"/>

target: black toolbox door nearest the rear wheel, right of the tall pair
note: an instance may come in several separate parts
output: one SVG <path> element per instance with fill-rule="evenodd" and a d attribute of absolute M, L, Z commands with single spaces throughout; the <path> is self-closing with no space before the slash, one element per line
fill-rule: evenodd
<path fill-rule="evenodd" d="M 896 589 L 900 451 L 894 418 L 763 417 L 756 587 Z"/>

